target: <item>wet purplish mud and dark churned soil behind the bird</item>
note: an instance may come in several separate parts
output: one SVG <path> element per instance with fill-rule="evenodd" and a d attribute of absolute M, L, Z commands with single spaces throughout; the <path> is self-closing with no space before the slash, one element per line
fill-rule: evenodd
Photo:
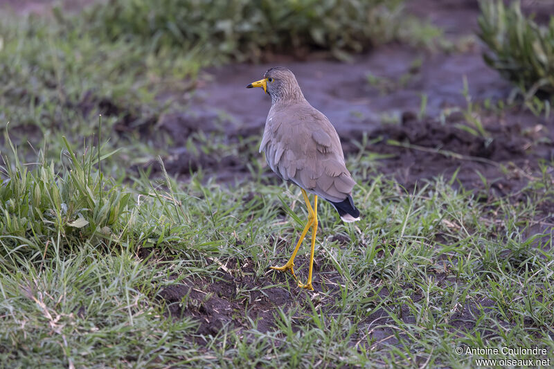
<path fill-rule="evenodd" d="M 551 3 L 524 1 L 522 5 L 530 14 L 554 13 Z M 476 30 L 476 1 L 418 0 L 409 1 L 406 8 L 443 28 L 452 42 Z M 357 154 L 359 143 L 367 135 L 374 141 L 366 147 L 368 152 L 391 155 L 379 159 L 378 172 L 395 177 L 406 188 L 438 175 L 449 178 L 460 168 L 456 186 L 483 189 L 481 174 L 493 183 L 499 195 L 519 190 L 537 172 L 539 160 L 554 156 L 554 132 L 550 129 L 554 118 L 547 121 L 544 116 L 522 109 L 470 112 L 468 101 L 484 105 L 486 100 L 494 105 L 512 92 L 510 84 L 485 65 L 482 53 L 483 46 L 475 39 L 456 53 L 391 45 L 355 57 L 350 63 L 299 62 L 285 56 L 279 62 L 207 69 L 186 115 L 176 113 L 160 125 L 176 143 L 166 158 L 168 168 L 185 177 L 203 168 L 220 181 L 248 178 L 245 163 L 260 160 L 259 154 L 194 156 L 178 147 L 179 142 L 199 129 L 220 132 L 229 145 L 238 143 L 239 138 L 251 138 L 249 145 L 256 147 L 245 147 L 244 152 L 255 152 L 270 100 L 261 89 L 244 87 L 271 66 L 280 64 L 294 71 L 307 100 L 330 118 L 346 155 Z M 423 97 L 427 99 L 425 109 Z M 484 136 L 466 132 L 465 127 L 474 128 L 468 116 L 482 121 L 487 132 Z M 508 172 L 503 167 L 509 168 Z M 271 176 L 269 170 L 267 174 Z"/>

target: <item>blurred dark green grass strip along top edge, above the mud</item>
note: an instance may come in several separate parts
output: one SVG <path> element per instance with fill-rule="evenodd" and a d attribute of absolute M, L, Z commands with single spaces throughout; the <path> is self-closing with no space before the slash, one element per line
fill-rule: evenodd
<path fill-rule="evenodd" d="M 264 53 L 313 49 L 336 57 L 391 41 L 400 0 L 109 1 L 87 11 L 87 24 L 108 39 L 151 48 L 199 50 L 213 62 L 259 60 Z"/>

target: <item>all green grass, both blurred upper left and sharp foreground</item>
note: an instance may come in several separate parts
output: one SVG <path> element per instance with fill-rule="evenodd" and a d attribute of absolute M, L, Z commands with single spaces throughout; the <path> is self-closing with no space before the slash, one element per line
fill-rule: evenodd
<path fill-rule="evenodd" d="M 193 160 L 247 163 L 252 180 L 239 186 L 126 170 L 165 154 L 158 124 L 176 106 L 159 92 L 190 93 L 211 60 L 195 44 L 179 52 L 169 28 L 159 41 L 109 36 L 127 17 L 115 9 L 0 24 L 2 366 L 463 368 L 479 356 L 457 346 L 520 345 L 554 359 L 552 163 L 507 197 L 456 190 L 455 176 L 406 192 L 360 150 L 348 168 L 371 178 L 355 188 L 364 217 L 345 225 L 321 204 L 317 292 L 299 290 L 268 267 L 289 257 L 305 209 L 298 188 L 268 183 L 255 137 L 186 139 Z"/>

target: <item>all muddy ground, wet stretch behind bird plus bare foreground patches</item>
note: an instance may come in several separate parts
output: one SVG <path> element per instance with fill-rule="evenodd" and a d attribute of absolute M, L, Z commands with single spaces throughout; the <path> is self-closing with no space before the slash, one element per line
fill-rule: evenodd
<path fill-rule="evenodd" d="M 8 3 L 21 13 L 38 8 L 39 12 L 44 11 L 44 1 Z M 539 20 L 546 19 L 545 14 L 554 14 L 553 3 L 523 1 L 523 5 L 526 12 L 537 13 Z M 203 71 L 194 95 L 186 98 L 186 112 L 166 114 L 156 125 L 173 138 L 170 154 L 165 158 L 168 171 L 184 180 L 197 168 L 226 183 L 248 177 L 250 173 L 242 157 L 194 156 L 187 152 L 184 143 L 188 135 L 203 130 L 208 134 L 223 134 L 228 143 L 237 143 L 239 137 L 251 138 L 248 142 L 257 149 L 270 100 L 261 89 L 244 87 L 259 80 L 271 66 L 283 65 L 294 71 L 307 100 L 334 123 L 346 155 L 357 154 L 360 150 L 357 143 L 362 141 L 364 134 L 368 136 L 371 144 L 365 150 L 383 154 L 374 174 L 395 177 L 406 188 L 413 188 L 418 181 L 440 174 L 449 178 L 459 168 L 454 186 L 481 190 L 484 188 L 482 175 L 492 183 L 490 191 L 494 193 L 490 193 L 491 196 L 513 194 L 523 188 L 530 176 L 539 175 L 541 159 L 554 159 L 553 116 L 547 121 L 544 116 L 534 116 L 525 109 L 481 108 L 478 115 L 488 134 L 481 137 L 468 133 L 463 126 L 473 126 L 464 114 L 468 106 L 463 96 L 464 78 L 467 79 L 467 96 L 479 105 L 485 105 L 485 100 L 495 105 L 498 100 L 506 100 L 512 91 L 508 82 L 485 65 L 481 57 L 485 51 L 483 46 L 476 38 L 471 38 L 479 14 L 476 1 L 412 0 L 407 8 L 413 15 L 427 18 L 443 28 L 446 39 L 454 44 L 452 50 L 436 48 L 431 51 L 392 44 L 353 57 L 349 63 L 321 56 L 298 61 L 287 55 L 276 55 L 267 64 L 232 64 Z M 427 97 L 423 110 L 422 96 Z M 266 174 L 276 181 L 269 170 Z M 356 180 L 371 181 L 371 177 Z M 554 206 L 545 212 L 551 215 L 545 221 L 554 222 Z M 283 247 L 289 246 L 283 244 Z M 256 273 L 244 265 L 244 260 L 241 263 L 240 269 L 235 269 L 233 262 L 226 263 L 219 281 L 186 280 L 163 289 L 159 297 L 168 303 L 168 314 L 194 316 L 199 321 L 199 334 L 217 334 L 228 324 L 248 327 L 244 319 L 247 306 L 249 316 L 254 321 L 259 320 L 258 329 L 263 332 L 274 326 L 276 307 L 287 311 L 294 296 L 307 293 L 299 289 L 289 293 L 284 287 L 269 287 L 264 278 L 255 278 Z M 321 291 L 318 278 L 328 280 L 327 286 L 339 278 L 336 271 L 320 270 L 317 263 L 315 276 L 316 293 L 312 300 L 317 300 L 317 291 Z M 446 276 L 438 277 L 449 282 Z M 288 276 L 279 274 L 278 278 L 285 283 Z M 260 284 L 269 288 L 243 298 L 238 295 L 239 290 L 249 290 Z M 413 296 L 413 300 L 417 298 Z M 189 303 L 181 305 L 184 299 Z M 330 301 L 319 303 L 332 306 Z M 487 307 L 491 301 L 485 299 L 475 306 L 463 307 L 459 321 L 452 324 L 472 326 L 472 309 L 478 304 Z M 374 315 L 368 322 L 385 323 L 386 319 L 381 319 L 387 316 L 384 310 Z M 406 321 L 413 319 L 407 308 L 404 318 Z M 370 331 L 371 323 L 368 324 L 363 331 Z M 395 340 L 390 332 L 372 332 L 377 341 L 392 343 Z"/>

